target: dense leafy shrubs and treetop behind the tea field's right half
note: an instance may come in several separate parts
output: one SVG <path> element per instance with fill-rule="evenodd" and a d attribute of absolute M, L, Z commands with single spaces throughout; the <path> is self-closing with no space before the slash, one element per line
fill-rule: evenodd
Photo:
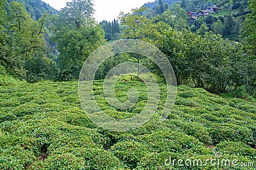
<path fill-rule="evenodd" d="M 255 55 L 244 50 L 246 44 L 234 43 L 213 32 L 178 31 L 165 22 L 140 15 L 143 11 L 141 8 L 121 16 L 122 24 L 128 26 L 122 36 L 156 45 L 170 60 L 179 85 L 192 85 L 215 93 L 243 86 L 255 95 Z M 147 63 L 143 62 L 159 73 L 152 62 Z"/>

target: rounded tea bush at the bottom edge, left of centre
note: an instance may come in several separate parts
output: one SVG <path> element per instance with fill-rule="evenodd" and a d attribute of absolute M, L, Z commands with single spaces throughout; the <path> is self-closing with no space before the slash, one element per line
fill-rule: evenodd
<path fill-rule="evenodd" d="M 36 162 L 31 169 L 123 169 L 123 165 L 111 152 L 91 146 L 61 148 L 49 154 L 44 164 Z"/>

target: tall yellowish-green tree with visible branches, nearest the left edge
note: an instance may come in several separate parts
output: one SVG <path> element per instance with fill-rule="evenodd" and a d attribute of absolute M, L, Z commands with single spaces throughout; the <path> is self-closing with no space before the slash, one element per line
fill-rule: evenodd
<path fill-rule="evenodd" d="M 47 59 L 47 48 L 44 34 L 47 29 L 47 13 L 42 15 L 38 21 L 32 20 L 24 5 L 13 1 L 8 6 L 8 20 L 6 22 L 8 36 L 13 40 L 8 45 L 12 46 L 11 52 L 16 59 L 15 66 L 20 66 L 26 71 L 26 78 L 29 82 L 38 80 L 53 80 L 52 75 L 54 62 Z M 40 67 L 44 64 L 44 67 Z"/>

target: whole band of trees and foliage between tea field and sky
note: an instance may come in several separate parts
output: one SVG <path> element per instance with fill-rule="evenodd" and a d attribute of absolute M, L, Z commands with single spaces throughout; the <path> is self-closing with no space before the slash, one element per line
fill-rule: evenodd
<path fill-rule="evenodd" d="M 22 4 L 1 3 L 1 13 L 6 16 L 0 20 L 3 25 L 0 32 L 1 66 L 6 73 L 29 82 L 77 79 L 84 60 L 104 43 L 105 32 L 107 40 L 134 38 L 156 45 L 168 56 L 180 85 L 201 87 L 211 92 L 245 89 L 240 97 L 248 93 L 255 95 L 253 2 L 248 9 L 247 1 L 198 3 L 183 0 L 153 4 L 151 10 L 141 8 L 121 15 L 120 24 L 117 20 L 95 24 L 91 1 L 72 1 L 58 15 L 44 13 L 37 21 L 32 20 Z M 212 4 L 223 8 L 233 4 L 233 7 L 200 17 L 191 25 L 186 10 L 192 4 L 195 6 L 190 10 Z M 246 17 L 248 11 L 252 13 Z M 239 17 L 246 19 L 238 22 Z M 236 27 L 235 32 L 232 27 Z M 223 39 L 233 39 L 235 33 L 236 39 L 240 36 L 244 40 L 242 43 Z M 130 59 L 125 55 L 120 60 L 143 62 L 161 74 L 152 62 L 133 54 L 129 56 Z M 101 76 L 97 79 L 104 78 L 114 63 L 120 63 L 117 58 L 100 68 Z"/>

